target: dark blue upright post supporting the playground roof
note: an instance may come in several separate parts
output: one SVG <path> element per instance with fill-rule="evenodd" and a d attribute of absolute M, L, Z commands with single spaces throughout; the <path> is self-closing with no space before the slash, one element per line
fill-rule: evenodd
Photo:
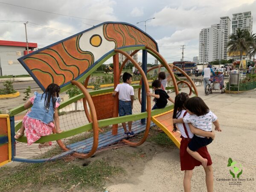
<path fill-rule="evenodd" d="M 147 50 L 142 50 L 142 70 L 145 73 L 145 76 L 147 76 Z M 146 111 L 146 91 L 145 91 L 145 84 L 142 80 L 141 84 L 141 112 Z M 145 124 L 146 119 L 141 119 L 141 124 Z"/>

